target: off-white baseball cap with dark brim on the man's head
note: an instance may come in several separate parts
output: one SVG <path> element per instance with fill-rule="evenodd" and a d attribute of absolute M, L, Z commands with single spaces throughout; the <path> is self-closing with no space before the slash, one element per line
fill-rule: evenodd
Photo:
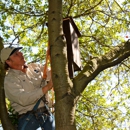
<path fill-rule="evenodd" d="M 17 50 L 22 49 L 23 47 L 6 47 L 3 48 L 0 52 L 1 62 L 4 64 L 5 61 Z"/>

